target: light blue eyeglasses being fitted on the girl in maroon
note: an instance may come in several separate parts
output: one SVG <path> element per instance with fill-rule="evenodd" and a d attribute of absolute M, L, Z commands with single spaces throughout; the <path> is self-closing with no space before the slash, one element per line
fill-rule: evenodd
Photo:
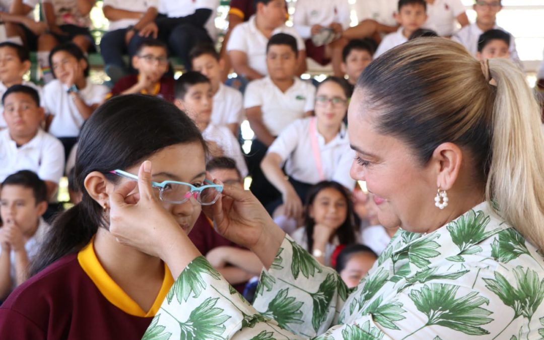
<path fill-rule="evenodd" d="M 123 170 L 113 170 L 110 172 L 121 177 L 129 178 L 130 180 L 138 181 L 138 176 Z M 209 184 L 195 187 L 193 184 L 186 182 L 163 181 L 160 183 L 151 182 L 151 186 L 160 190 L 159 198 L 163 202 L 181 204 L 193 197 L 201 205 L 211 206 L 213 203 L 217 202 L 219 196 L 221 196 L 223 186 L 214 184 L 209 180 L 204 181 Z"/>

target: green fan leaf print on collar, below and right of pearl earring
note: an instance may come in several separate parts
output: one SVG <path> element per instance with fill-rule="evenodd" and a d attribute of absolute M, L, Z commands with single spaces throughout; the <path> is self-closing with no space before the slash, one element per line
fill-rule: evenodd
<path fill-rule="evenodd" d="M 485 227 L 489 224 L 489 221 L 490 217 L 485 215 L 484 212 L 479 211 L 476 213 L 471 210 L 456 221 L 448 224 L 446 228 L 452 237 L 453 243 L 458 246 L 459 254 L 447 259 L 464 262 L 465 259 L 461 255 L 473 255 L 481 252 L 482 249 L 477 244 L 501 230 L 497 228 L 486 232 Z"/>

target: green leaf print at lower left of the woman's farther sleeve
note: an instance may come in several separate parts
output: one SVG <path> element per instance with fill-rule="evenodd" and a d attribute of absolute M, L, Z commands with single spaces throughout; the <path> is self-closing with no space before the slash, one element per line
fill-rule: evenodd
<path fill-rule="evenodd" d="M 289 288 L 281 289 L 268 304 L 264 316 L 276 320 L 283 329 L 292 330 L 288 324 L 302 324 L 302 311 L 300 308 L 304 302 L 296 301 L 295 298 L 287 296 Z"/>

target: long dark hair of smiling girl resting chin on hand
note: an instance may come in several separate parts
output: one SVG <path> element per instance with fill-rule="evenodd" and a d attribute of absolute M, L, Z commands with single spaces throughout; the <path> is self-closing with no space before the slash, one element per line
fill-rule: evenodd
<path fill-rule="evenodd" d="M 316 225 L 316 221 L 310 217 L 310 207 L 313 201 L 316 200 L 317 194 L 323 189 L 332 188 L 339 191 L 344 196 L 345 202 L 348 205 L 345 221 L 336 230 L 335 235 L 338 236 L 340 244 L 352 244 L 355 242 L 355 221 L 354 221 L 354 209 L 353 202 L 351 202 L 351 194 L 342 186 L 342 184 L 335 181 L 322 181 L 312 186 L 308 190 L 306 195 L 306 206 L 304 214 L 304 228 L 306 230 L 306 238 L 308 241 L 308 251 L 313 249 L 313 227 Z"/>

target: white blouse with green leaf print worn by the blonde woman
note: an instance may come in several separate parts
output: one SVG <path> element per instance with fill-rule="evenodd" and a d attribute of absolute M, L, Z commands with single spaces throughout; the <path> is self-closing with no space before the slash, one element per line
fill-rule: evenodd
<path fill-rule="evenodd" d="M 485 202 L 434 232 L 397 232 L 352 291 L 286 237 L 253 306 L 198 257 L 144 339 L 540 339 L 543 267 Z"/>

